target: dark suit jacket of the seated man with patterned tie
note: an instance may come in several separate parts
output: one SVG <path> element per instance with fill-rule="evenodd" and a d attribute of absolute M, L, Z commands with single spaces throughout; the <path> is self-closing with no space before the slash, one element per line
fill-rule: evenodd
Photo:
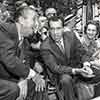
<path fill-rule="evenodd" d="M 41 45 L 41 54 L 48 66 L 50 77 L 55 75 L 72 74 L 72 68 L 81 67 L 82 55 L 85 51 L 74 33 L 67 32 L 63 35 L 65 53 L 62 53 L 55 41 L 49 37 Z"/>

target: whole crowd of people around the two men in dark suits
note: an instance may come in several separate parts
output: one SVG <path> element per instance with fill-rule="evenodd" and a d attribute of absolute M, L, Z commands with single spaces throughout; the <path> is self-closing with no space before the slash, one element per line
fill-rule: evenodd
<path fill-rule="evenodd" d="M 24 1 L 15 6 L 13 18 L 0 11 L 0 100 L 100 96 L 99 23 L 88 21 L 78 38 L 55 8 L 43 12 Z M 79 89 L 83 85 L 88 90 Z"/>

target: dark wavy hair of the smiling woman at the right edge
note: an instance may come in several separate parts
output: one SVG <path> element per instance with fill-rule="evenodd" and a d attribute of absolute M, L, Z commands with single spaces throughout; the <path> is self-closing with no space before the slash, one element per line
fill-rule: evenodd
<path fill-rule="evenodd" d="M 97 22 L 97 21 L 93 21 L 93 20 L 90 20 L 90 21 L 88 21 L 87 22 L 87 24 L 85 25 L 85 27 L 84 27 L 84 33 L 85 34 L 87 34 L 87 27 L 88 27 L 88 25 L 90 25 L 90 24 L 92 24 L 92 25 L 95 25 L 96 26 L 96 30 L 97 30 L 97 34 L 96 35 L 98 35 L 98 36 L 100 36 L 100 27 L 99 27 L 99 23 Z"/>

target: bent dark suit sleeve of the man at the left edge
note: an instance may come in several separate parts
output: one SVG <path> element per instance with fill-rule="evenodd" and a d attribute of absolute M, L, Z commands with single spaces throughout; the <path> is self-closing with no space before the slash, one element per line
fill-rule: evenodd
<path fill-rule="evenodd" d="M 22 78 L 26 78 L 29 74 L 29 67 L 25 66 L 16 56 L 16 47 L 14 42 L 7 38 L 0 31 L 0 62 L 6 66 L 8 72 L 13 73 Z"/>

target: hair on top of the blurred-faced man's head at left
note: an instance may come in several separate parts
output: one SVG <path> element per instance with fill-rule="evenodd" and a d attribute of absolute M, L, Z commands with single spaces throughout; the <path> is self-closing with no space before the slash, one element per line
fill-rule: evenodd
<path fill-rule="evenodd" d="M 15 17 L 14 17 L 14 20 L 16 22 L 18 22 L 18 18 L 20 16 L 24 17 L 24 18 L 27 18 L 27 15 L 28 15 L 28 11 L 34 11 L 31 7 L 28 7 L 28 6 L 24 6 L 24 7 L 21 7 L 19 9 L 16 10 L 15 12 Z M 34 11 L 35 12 L 35 11 Z"/>

